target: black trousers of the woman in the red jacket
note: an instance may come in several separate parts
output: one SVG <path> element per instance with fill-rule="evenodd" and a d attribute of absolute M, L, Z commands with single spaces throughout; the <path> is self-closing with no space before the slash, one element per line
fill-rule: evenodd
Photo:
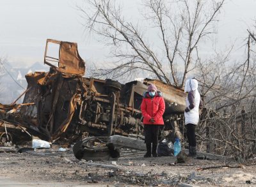
<path fill-rule="evenodd" d="M 156 125 L 156 124 L 145 124 L 144 125 L 145 143 L 146 144 L 152 143 L 154 145 L 157 145 L 159 128 L 160 128 L 160 125 Z"/>

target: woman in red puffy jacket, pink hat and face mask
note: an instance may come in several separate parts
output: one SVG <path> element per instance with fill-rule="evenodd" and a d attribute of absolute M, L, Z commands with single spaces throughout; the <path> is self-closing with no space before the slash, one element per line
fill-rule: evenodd
<path fill-rule="evenodd" d="M 161 125 L 164 124 L 163 114 L 165 110 L 163 94 L 157 91 L 154 84 L 148 86 L 148 91 L 143 94 L 141 103 L 141 113 L 143 115 L 143 124 L 145 130 L 145 143 L 147 153 L 145 158 L 152 156 L 157 157 L 156 147 L 158 143 L 158 133 Z M 151 152 L 152 143 L 152 152 Z"/>

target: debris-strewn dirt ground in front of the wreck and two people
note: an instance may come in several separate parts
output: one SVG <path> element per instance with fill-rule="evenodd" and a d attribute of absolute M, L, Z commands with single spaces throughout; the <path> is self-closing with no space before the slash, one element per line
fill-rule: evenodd
<path fill-rule="evenodd" d="M 122 149 L 115 161 L 84 161 L 71 149 L 17 153 L 14 147 L 0 147 L 0 186 L 256 186 L 255 160 L 242 165 L 204 153 L 209 160 L 190 158 L 175 164 L 170 156 L 143 154 Z M 225 164 L 229 167 L 220 167 Z"/>

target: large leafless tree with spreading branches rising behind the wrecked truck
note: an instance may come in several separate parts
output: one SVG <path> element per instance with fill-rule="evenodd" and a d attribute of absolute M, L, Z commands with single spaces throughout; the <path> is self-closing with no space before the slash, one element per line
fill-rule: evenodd
<path fill-rule="evenodd" d="M 95 75 L 116 79 L 143 71 L 170 85 L 184 86 L 198 63 L 196 49 L 214 33 L 224 2 L 147 0 L 143 1 L 144 19 L 134 23 L 125 19 L 122 7 L 113 0 L 88 0 L 89 7 L 79 7 L 86 19 L 84 26 L 102 36 L 115 57 L 113 66 L 101 68 Z M 147 35 L 148 29 L 154 36 Z"/>

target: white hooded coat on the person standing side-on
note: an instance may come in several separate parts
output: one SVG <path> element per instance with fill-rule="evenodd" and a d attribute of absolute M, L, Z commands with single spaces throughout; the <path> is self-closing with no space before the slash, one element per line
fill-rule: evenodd
<path fill-rule="evenodd" d="M 200 93 L 197 90 L 198 88 L 198 82 L 195 79 L 188 79 L 186 80 L 184 92 L 189 93 L 191 91 L 194 91 L 195 96 L 195 107 L 189 110 L 188 112 L 184 112 L 185 116 L 185 124 L 192 123 L 192 124 L 198 124 L 199 121 L 199 105 L 200 105 Z M 188 96 L 186 98 L 186 107 L 189 108 L 189 100 Z M 189 108 L 190 109 L 190 108 Z"/>

